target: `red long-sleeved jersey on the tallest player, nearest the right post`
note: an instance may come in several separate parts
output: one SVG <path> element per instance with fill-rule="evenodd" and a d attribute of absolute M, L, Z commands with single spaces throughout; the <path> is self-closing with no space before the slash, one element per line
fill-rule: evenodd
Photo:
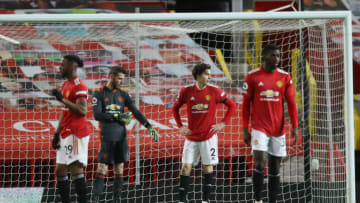
<path fill-rule="evenodd" d="M 290 75 L 277 68 L 274 73 L 265 72 L 263 67 L 250 71 L 243 85 L 242 108 L 243 128 L 264 132 L 268 136 L 284 134 L 284 105 L 286 98 L 293 127 L 298 127 L 295 90 Z"/>

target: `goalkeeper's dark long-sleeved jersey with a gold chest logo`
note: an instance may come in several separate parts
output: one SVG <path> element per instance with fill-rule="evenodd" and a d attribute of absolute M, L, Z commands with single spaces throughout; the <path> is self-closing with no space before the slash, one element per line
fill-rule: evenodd
<path fill-rule="evenodd" d="M 110 90 L 106 86 L 95 92 L 92 108 L 95 119 L 100 122 L 101 140 L 119 141 L 126 136 L 125 125 L 113 119 L 113 114 L 124 113 L 125 106 L 140 123 L 148 123 L 127 92 L 119 89 Z"/>

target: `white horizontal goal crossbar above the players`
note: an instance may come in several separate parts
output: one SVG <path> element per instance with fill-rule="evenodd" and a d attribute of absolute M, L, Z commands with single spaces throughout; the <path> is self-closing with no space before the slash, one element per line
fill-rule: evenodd
<path fill-rule="evenodd" d="M 350 11 L 304 12 L 232 12 L 232 13 L 137 13 L 137 14 L 41 14 L 0 15 L 0 22 L 118 22 L 118 21 L 180 21 L 180 20 L 292 20 L 350 19 Z"/>

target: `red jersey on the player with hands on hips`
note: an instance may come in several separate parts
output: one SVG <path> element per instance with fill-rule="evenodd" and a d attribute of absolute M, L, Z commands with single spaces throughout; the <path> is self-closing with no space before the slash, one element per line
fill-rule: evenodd
<path fill-rule="evenodd" d="M 173 114 L 178 127 L 181 127 L 179 109 L 183 104 L 187 104 L 188 128 L 192 132 L 187 136 L 188 140 L 204 141 L 214 135 L 210 129 L 212 125 L 216 124 L 216 104 L 224 102 L 226 99 L 225 92 L 211 84 L 202 90 L 199 90 L 196 84 L 181 89 L 173 107 Z M 229 105 L 231 107 L 222 120 L 225 123 L 229 121 L 235 109 L 235 104 L 229 98 L 227 100 L 231 103 Z"/>

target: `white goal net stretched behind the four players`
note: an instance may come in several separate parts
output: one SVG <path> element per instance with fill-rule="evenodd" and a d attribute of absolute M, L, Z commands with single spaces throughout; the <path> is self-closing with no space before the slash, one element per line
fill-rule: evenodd
<path fill-rule="evenodd" d="M 106 83 L 109 68 L 120 65 L 128 71 L 123 89 L 160 134 L 155 143 L 135 120 L 127 125 L 130 161 L 124 167 L 121 200 L 176 202 L 185 138 L 171 108 L 180 88 L 194 82 L 191 70 L 200 62 L 211 65 L 211 83 L 237 103 L 230 123 L 218 134 L 220 163 L 214 171 L 214 201 L 251 201 L 254 162 L 240 127 L 242 83 L 248 71 L 261 65 L 262 47 L 276 44 L 281 48 L 279 67 L 291 74 L 296 88 L 300 122 L 299 140 L 294 144 L 287 116 L 288 156 L 282 161 L 279 202 L 354 202 L 349 16 L 345 12 L 292 15 L 2 16 L 0 201 L 60 201 L 51 139 L 62 105 L 50 92 L 64 82 L 59 64 L 67 54 L 84 61 L 77 74 L 90 95 L 85 171 L 91 201 L 100 147 L 91 96 Z M 184 123 L 185 108 L 181 110 Z M 224 105 L 218 106 L 219 121 L 225 111 Z M 265 183 L 267 175 L 266 167 Z M 201 200 L 201 179 L 199 164 L 191 173 L 190 202 Z M 105 198 L 111 201 L 112 167 L 105 180 Z M 74 188 L 71 191 L 75 201 Z"/>

